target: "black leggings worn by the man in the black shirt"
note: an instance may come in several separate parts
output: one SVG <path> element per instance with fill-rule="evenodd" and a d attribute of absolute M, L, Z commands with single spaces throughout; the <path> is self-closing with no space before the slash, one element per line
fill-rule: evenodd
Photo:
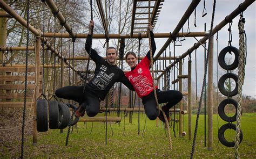
<path fill-rule="evenodd" d="M 85 91 L 83 96 L 84 86 L 64 86 L 57 89 L 55 95 L 59 98 L 74 100 L 79 105 L 85 107 L 86 113 L 89 117 L 94 117 L 99 112 L 100 100 L 98 97 L 91 95 Z"/>

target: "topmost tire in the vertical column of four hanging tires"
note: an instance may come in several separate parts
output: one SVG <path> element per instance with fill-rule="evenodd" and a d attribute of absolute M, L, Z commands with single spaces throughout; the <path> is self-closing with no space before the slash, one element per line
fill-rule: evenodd
<path fill-rule="evenodd" d="M 232 64 L 226 64 L 226 62 L 225 62 L 225 55 L 228 52 L 233 52 L 234 55 L 235 55 L 235 59 L 234 59 L 234 62 Z M 238 67 L 238 56 L 239 56 L 239 50 L 236 47 L 227 46 L 227 47 L 223 48 L 220 51 L 220 54 L 219 54 L 219 57 L 218 57 L 220 67 L 225 69 L 225 70 L 233 70 L 233 69 L 237 68 Z"/>

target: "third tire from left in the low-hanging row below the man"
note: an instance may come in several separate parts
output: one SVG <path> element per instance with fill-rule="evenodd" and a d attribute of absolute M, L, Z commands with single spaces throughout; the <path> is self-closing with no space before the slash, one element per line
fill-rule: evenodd
<path fill-rule="evenodd" d="M 69 125 L 70 111 L 69 107 L 63 103 L 59 103 L 59 129 L 64 129 Z"/>

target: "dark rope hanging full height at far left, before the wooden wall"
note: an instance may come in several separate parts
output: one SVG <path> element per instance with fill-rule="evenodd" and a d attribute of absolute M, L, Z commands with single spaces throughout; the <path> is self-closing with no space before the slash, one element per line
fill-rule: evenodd
<path fill-rule="evenodd" d="M 26 118 L 26 89 L 28 85 L 28 57 L 29 57 L 29 5 L 27 2 L 26 8 L 26 70 L 25 70 L 25 88 L 24 88 L 24 106 L 22 115 L 22 144 L 21 144 L 21 158 L 24 155 L 24 130 L 25 130 L 25 118 Z"/>

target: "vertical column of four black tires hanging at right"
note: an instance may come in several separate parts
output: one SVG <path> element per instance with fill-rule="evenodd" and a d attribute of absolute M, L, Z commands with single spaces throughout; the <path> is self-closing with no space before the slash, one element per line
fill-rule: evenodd
<path fill-rule="evenodd" d="M 226 64 L 225 62 L 225 55 L 227 53 L 231 53 L 233 52 L 235 55 L 235 59 L 233 61 L 232 64 Z M 218 138 L 219 141 L 224 144 L 227 147 L 234 147 L 235 143 L 233 142 L 229 142 L 225 139 L 224 133 L 227 129 L 234 129 L 235 131 L 235 125 L 232 124 L 232 122 L 237 120 L 237 101 L 235 101 L 234 99 L 231 99 L 231 97 L 237 95 L 238 93 L 238 75 L 237 74 L 233 74 L 233 73 L 229 73 L 231 70 L 234 70 L 238 67 L 238 56 L 239 56 L 239 50 L 233 46 L 227 46 L 225 47 L 223 50 L 221 50 L 219 57 L 218 57 L 218 62 L 221 68 L 227 70 L 227 74 L 223 75 L 220 77 L 219 82 L 218 82 L 218 89 L 219 91 L 224 95 L 227 96 L 227 99 L 224 99 L 222 102 L 220 102 L 219 106 L 218 106 L 218 114 L 220 116 L 221 119 L 223 119 L 224 121 L 227 121 L 227 124 L 224 124 L 223 126 L 221 126 L 219 128 L 218 131 Z M 227 91 L 225 89 L 225 81 L 228 78 L 232 78 L 235 81 L 235 88 L 233 91 Z M 232 104 L 235 107 L 235 114 L 233 115 L 233 117 L 228 117 L 225 114 L 225 106 L 227 104 Z M 242 141 L 242 131 L 240 134 L 240 143 Z"/>

